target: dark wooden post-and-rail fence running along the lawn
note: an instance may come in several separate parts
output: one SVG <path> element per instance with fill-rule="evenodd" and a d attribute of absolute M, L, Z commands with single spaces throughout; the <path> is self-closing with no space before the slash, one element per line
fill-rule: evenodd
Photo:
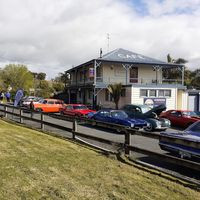
<path fill-rule="evenodd" d="M 11 108 L 12 111 L 9 111 L 8 108 Z M 15 110 L 17 110 L 18 113 L 15 113 L 14 112 Z M 197 142 L 197 141 L 188 141 L 188 140 L 176 138 L 176 137 L 173 137 L 173 136 L 164 136 L 164 135 L 160 135 L 160 134 L 157 134 L 157 133 L 133 130 L 133 129 L 130 129 L 130 128 L 127 128 L 127 127 L 124 127 L 124 126 L 121 126 L 121 125 L 111 124 L 111 123 L 107 123 L 107 122 L 95 121 L 95 120 L 87 119 L 87 118 L 83 118 L 83 117 L 72 118 L 72 117 L 69 117 L 69 116 L 61 116 L 61 115 L 57 115 L 57 114 L 47 114 L 47 113 L 43 113 L 43 112 L 30 111 L 30 110 L 27 110 L 25 108 L 18 108 L 18 107 L 14 107 L 12 105 L 0 104 L 0 112 L 4 113 L 3 117 L 5 117 L 5 118 L 8 118 L 8 114 L 12 115 L 12 116 L 19 117 L 20 123 L 23 123 L 24 119 L 25 120 L 31 120 L 31 121 L 40 123 L 41 129 L 44 129 L 44 126 L 47 125 L 47 126 L 51 126 L 51 127 L 57 128 L 57 129 L 61 129 L 61 130 L 70 132 L 72 134 L 72 138 L 75 139 L 75 140 L 76 139 L 80 140 L 78 137 L 81 137 L 81 138 L 90 139 L 90 140 L 94 140 L 94 141 L 109 144 L 109 145 L 116 145 L 116 146 L 121 147 L 124 150 L 126 155 L 130 155 L 130 152 L 142 153 L 142 154 L 145 154 L 145 155 L 148 155 L 148 156 L 152 156 L 156 159 L 162 159 L 163 161 L 166 161 L 166 162 L 178 164 L 180 166 L 185 166 L 187 168 L 191 168 L 191 169 L 200 171 L 200 163 L 193 162 L 193 161 L 190 161 L 190 160 L 185 160 L 185 159 L 170 156 L 170 155 L 166 155 L 166 154 L 160 154 L 160 153 L 152 152 L 152 151 L 149 151 L 147 149 L 142 149 L 142 148 L 138 148 L 138 147 L 135 147 L 135 146 L 131 146 L 131 136 L 132 135 L 140 135 L 140 136 L 148 137 L 148 138 L 152 138 L 152 139 L 165 139 L 165 141 L 169 141 L 169 142 L 176 141 L 176 143 L 178 143 L 178 144 L 187 145 L 188 147 L 200 149 L 200 143 Z M 30 117 L 24 116 L 25 112 L 30 112 Z M 33 118 L 32 117 L 33 113 L 39 114 L 40 119 Z M 60 119 L 60 120 L 70 121 L 70 122 L 72 122 L 72 128 L 45 121 L 45 116 L 50 116 L 50 117 L 54 117 L 54 118 L 57 118 L 57 119 Z M 104 138 L 101 138 L 101 137 L 81 133 L 81 132 L 78 131 L 78 126 L 77 126 L 77 124 L 81 124 L 81 123 L 98 125 L 98 126 L 102 126 L 102 127 L 106 127 L 106 128 L 111 128 L 111 129 L 120 128 L 124 132 L 123 133 L 124 134 L 124 142 L 122 142 L 122 143 L 114 142 L 112 140 L 108 140 L 108 139 L 104 139 Z M 83 140 L 81 140 L 81 141 L 84 142 Z M 85 142 L 85 143 L 88 143 L 88 142 Z M 96 145 L 93 145 L 93 146 L 96 146 Z M 104 148 L 101 148 L 101 147 L 98 147 L 98 148 L 105 150 Z"/>

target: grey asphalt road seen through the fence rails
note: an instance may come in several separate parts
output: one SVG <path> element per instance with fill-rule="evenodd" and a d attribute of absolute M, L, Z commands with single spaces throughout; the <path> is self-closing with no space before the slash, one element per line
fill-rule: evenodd
<path fill-rule="evenodd" d="M 14 112 L 17 113 L 18 111 L 15 110 Z M 30 113 L 24 113 L 24 115 L 30 116 Z M 8 115 L 8 117 L 12 118 L 11 115 Z M 34 114 L 33 118 L 40 119 L 40 114 Z M 14 117 L 13 119 L 19 121 L 18 117 Z M 64 120 L 52 118 L 52 117 L 49 117 L 49 116 L 45 116 L 45 121 L 72 128 L 72 122 L 69 122 L 69 121 L 64 121 Z M 40 124 L 38 124 L 36 122 L 29 121 L 29 120 L 24 120 L 24 123 L 29 124 L 29 125 L 34 126 L 34 127 L 37 127 L 37 128 L 40 127 Z M 58 130 L 58 129 L 53 128 L 53 127 L 45 126 L 45 130 L 56 132 L 56 133 L 63 135 L 65 137 L 69 137 L 69 138 L 72 137 L 72 134 L 70 132 Z M 170 128 L 167 131 L 180 131 L 180 130 L 181 129 Z M 91 125 L 81 124 L 81 125 L 78 125 L 78 132 L 88 134 L 88 135 L 97 136 L 97 137 L 101 137 L 101 138 L 108 139 L 108 140 L 111 140 L 111 141 L 114 141 L 114 142 L 124 143 L 124 135 L 123 134 L 116 133 L 116 131 L 113 131 L 113 130 L 107 129 L 107 128 L 96 127 L 96 126 L 93 127 Z M 89 140 L 87 140 L 87 141 L 89 141 Z M 106 148 L 106 149 L 110 149 L 110 150 L 113 150 L 113 149 L 116 150 L 116 148 L 118 148 L 116 146 L 105 145 L 105 144 L 94 142 L 94 141 L 91 141 L 91 140 L 89 142 L 96 144 L 96 145 L 100 145 L 101 147 Z M 162 154 L 167 153 L 167 152 L 162 151 L 160 149 L 157 139 L 151 139 L 151 138 L 146 138 L 146 137 L 134 135 L 134 136 L 131 137 L 131 143 L 132 143 L 133 146 L 136 146 L 136 147 L 148 149 L 148 150 L 158 152 L 158 153 L 162 153 Z M 183 174 L 183 175 L 186 175 L 188 177 L 194 177 L 195 179 L 200 180 L 200 175 L 195 170 L 186 169 L 182 166 L 166 163 L 166 162 L 163 162 L 163 161 L 160 161 L 160 160 L 155 160 L 155 159 L 152 159 L 149 156 L 138 154 L 138 153 L 132 153 L 132 155 L 133 155 L 134 158 L 137 158 L 137 159 L 139 159 L 139 160 L 141 160 L 145 163 L 149 163 L 149 164 L 152 164 L 152 165 L 173 171 L 175 173 Z"/>

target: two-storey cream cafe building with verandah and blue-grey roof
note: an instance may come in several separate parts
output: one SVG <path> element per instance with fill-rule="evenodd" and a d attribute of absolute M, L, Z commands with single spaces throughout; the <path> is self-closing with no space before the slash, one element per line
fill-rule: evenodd
<path fill-rule="evenodd" d="M 180 79 L 170 79 L 177 70 Z M 187 109 L 184 66 L 170 64 L 124 49 L 116 49 L 67 71 L 69 102 L 114 108 L 107 87 L 122 83 L 119 107 L 124 104 L 165 104 L 167 109 Z"/>

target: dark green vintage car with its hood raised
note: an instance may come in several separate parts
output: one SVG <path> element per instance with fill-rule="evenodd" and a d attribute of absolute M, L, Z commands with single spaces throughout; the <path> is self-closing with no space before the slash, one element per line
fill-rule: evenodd
<path fill-rule="evenodd" d="M 145 128 L 146 131 L 166 130 L 170 127 L 171 122 L 168 119 L 160 118 L 159 115 L 166 110 L 164 105 L 150 108 L 147 105 L 128 104 L 122 107 L 130 118 L 144 119 L 149 123 Z"/>

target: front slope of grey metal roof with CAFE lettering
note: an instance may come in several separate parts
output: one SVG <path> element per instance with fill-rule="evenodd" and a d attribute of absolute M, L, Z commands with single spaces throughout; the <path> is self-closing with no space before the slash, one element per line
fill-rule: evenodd
<path fill-rule="evenodd" d="M 150 58 L 141 54 L 137 54 L 137 53 L 134 53 L 132 51 L 128 51 L 122 48 L 111 51 L 103 55 L 101 58 L 98 58 L 98 60 L 125 62 L 125 63 L 144 63 L 144 64 L 156 63 L 158 65 L 168 64 L 166 62 L 163 62 L 154 58 Z"/>

